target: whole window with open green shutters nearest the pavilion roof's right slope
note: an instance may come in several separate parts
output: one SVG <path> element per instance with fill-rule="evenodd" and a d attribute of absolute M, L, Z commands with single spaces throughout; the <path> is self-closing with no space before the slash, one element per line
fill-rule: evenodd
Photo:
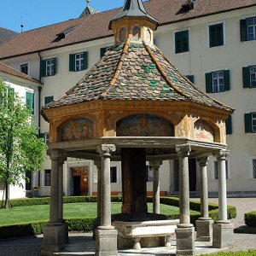
<path fill-rule="evenodd" d="M 230 90 L 230 71 L 206 73 L 207 93 Z"/>

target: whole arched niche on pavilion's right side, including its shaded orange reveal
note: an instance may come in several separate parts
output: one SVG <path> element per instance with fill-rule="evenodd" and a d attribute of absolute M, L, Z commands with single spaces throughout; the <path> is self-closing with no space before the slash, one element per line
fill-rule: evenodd
<path fill-rule="evenodd" d="M 219 143 L 218 126 L 210 120 L 198 119 L 194 124 L 194 137 L 209 143 Z"/>

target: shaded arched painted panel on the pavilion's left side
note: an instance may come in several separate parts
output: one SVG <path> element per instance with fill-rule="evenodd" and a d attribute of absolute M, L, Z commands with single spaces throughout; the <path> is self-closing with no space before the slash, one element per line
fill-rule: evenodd
<path fill-rule="evenodd" d="M 59 142 L 76 141 L 94 137 L 93 122 L 90 119 L 75 117 L 64 120 L 57 127 Z"/>

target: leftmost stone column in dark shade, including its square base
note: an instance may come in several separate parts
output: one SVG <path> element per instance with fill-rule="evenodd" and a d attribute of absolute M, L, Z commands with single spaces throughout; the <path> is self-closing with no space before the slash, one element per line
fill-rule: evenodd
<path fill-rule="evenodd" d="M 65 225 L 61 221 L 60 166 L 64 152 L 60 149 L 48 151 L 51 160 L 49 223 L 44 227 L 44 242 L 41 255 L 59 252 L 65 247 Z"/>

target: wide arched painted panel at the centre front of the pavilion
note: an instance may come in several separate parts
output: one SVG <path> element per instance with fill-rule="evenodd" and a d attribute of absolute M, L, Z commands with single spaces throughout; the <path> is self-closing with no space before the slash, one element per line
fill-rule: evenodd
<path fill-rule="evenodd" d="M 172 137 L 173 125 L 152 114 L 137 114 L 117 123 L 117 136 Z"/>

